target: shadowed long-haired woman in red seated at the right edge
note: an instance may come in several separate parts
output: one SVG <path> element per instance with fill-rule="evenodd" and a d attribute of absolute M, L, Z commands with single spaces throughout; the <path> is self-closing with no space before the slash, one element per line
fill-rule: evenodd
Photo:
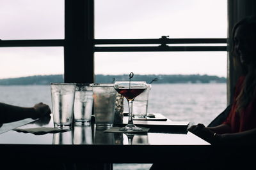
<path fill-rule="evenodd" d="M 236 146 L 248 146 L 253 149 L 256 146 L 256 17 L 246 17 L 237 22 L 232 30 L 232 57 L 237 72 L 241 73 L 236 84 L 234 101 L 230 110 L 226 110 L 227 117 L 223 122 L 214 127 L 205 127 L 203 124 L 192 125 L 188 131 L 196 134 L 205 141 L 216 147 L 220 147 L 218 154 L 213 152 L 209 157 L 210 162 L 184 162 L 177 164 L 164 162 L 153 164 L 151 169 L 242 169 L 254 166 L 252 156 L 243 155 L 237 150 Z M 217 117 L 218 118 L 218 117 Z M 234 146 L 234 155 L 228 146 Z M 236 151 L 237 150 L 237 151 Z M 237 152 L 237 153 L 236 153 Z M 227 154 L 226 154 L 227 153 Z M 226 155 L 225 155 L 226 154 Z M 227 156 L 229 154 L 229 157 Z M 186 156 L 189 157 L 189 156 Z M 193 153 L 191 156 L 193 157 Z M 205 159 L 206 160 L 206 159 Z M 171 160 L 170 160 L 171 161 Z M 174 165 L 174 166 L 173 166 Z M 255 169 L 255 166 L 253 167 Z"/>

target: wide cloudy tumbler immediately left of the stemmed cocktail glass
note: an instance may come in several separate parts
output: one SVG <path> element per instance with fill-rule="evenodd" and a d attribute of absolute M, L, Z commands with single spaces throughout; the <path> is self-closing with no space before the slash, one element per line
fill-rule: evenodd
<path fill-rule="evenodd" d="M 116 90 L 111 83 L 92 84 L 93 108 L 97 127 L 111 127 L 115 117 Z"/>

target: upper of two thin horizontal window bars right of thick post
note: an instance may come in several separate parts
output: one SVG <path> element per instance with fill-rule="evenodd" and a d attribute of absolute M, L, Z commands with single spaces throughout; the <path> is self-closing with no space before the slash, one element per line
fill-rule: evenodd
<path fill-rule="evenodd" d="M 95 45 L 227 43 L 227 38 L 94 39 Z"/>

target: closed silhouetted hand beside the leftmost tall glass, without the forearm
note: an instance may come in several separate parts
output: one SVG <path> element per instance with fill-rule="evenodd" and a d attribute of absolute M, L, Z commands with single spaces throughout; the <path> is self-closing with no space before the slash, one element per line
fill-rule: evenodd
<path fill-rule="evenodd" d="M 31 118 L 36 119 L 36 118 L 41 118 L 41 117 L 46 117 L 51 114 L 51 109 L 47 104 L 44 103 L 38 103 L 35 104 L 33 107 L 35 110 L 35 114 L 32 115 Z"/>

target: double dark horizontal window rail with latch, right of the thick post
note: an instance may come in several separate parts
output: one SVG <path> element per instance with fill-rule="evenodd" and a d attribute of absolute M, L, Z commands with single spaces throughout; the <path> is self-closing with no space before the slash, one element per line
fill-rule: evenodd
<path fill-rule="evenodd" d="M 207 44 L 215 45 L 207 45 Z M 163 36 L 159 39 L 94 39 L 95 52 L 195 52 L 195 51 L 227 51 L 227 38 L 177 38 L 170 39 Z M 159 44 L 159 46 L 146 46 L 147 44 Z M 204 44 L 204 46 L 168 46 L 169 44 Z M 115 46 L 135 45 L 135 46 Z M 145 46 L 136 46 L 145 45 Z"/>

